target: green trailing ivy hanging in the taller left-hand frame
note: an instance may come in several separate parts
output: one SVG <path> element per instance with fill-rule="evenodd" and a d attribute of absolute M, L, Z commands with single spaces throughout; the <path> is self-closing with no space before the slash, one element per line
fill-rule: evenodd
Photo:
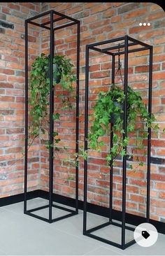
<path fill-rule="evenodd" d="M 73 97 L 73 82 L 76 81 L 76 76 L 73 73 L 73 64 L 71 59 L 64 55 L 55 55 L 53 58 L 53 68 L 56 64 L 56 69 L 53 69 L 53 86 L 56 86 L 57 76 L 59 78 L 59 84 L 62 86 L 62 92 L 67 90 L 69 95 Z M 29 125 L 29 146 L 33 143 L 34 139 L 39 134 L 45 134 L 45 122 L 48 122 L 48 106 L 50 95 L 50 56 L 41 54 L 36 57 L 32 64 L 30 73 L 30 125 Z M 67 97 L 67 102 L 63 99 L 64 95 L 60 94 L 65 109 L 72 108 L 71 101 Z M 54 113 L 53 120 L 59 120 L 60 114 Z M 56 151 L 59 150 L 57 144 L 60 141 L 57 131 L 54 132 L 53 145 L 47 145 L 47 148 L 53 147 Z"/>

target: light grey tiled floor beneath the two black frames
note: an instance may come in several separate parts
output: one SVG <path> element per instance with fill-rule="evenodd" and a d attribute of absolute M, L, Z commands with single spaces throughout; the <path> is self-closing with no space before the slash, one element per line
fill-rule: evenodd
<path fill-rule="evenodd" d="M 28 208 L 47 204 L 44 199 L 28 201 Z M 38 212 L 48 217 L 48 209 Z M 64 211 L 53 208 L 54 218 Z M 88 213 L 88 229 L 107 222 L 106 218 Z M 108 226 L 94 232 L 106 239 L 120 237 L 119 228 Z M 165 235 L 159 234 L 150 248 L 134 244 L 120 250 L 101 241 L 82 235 L 82 211 L 71 218 L 49 224 L 23 214 L 23 203 L 0 208 L 0 255 L 165 255 Z M 111 235 L 110 235 L 111 234 Z M 132 232 L 128 232 L 128 241 Z"/>

